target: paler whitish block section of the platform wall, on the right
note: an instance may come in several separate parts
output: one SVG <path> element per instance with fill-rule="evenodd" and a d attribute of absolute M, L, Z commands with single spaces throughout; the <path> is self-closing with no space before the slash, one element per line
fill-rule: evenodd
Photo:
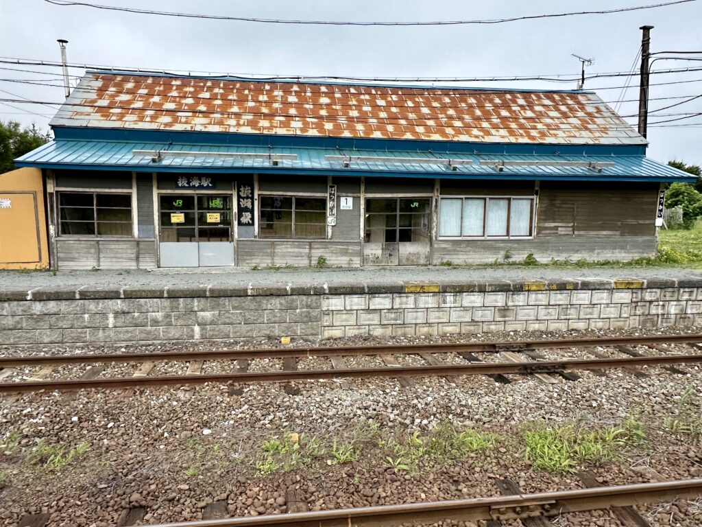
<path fill-rule="evenodd" d="M 608 289 L 326 295 L 322 337 L 702 327 L 702 287 L 616 282 Z"/>

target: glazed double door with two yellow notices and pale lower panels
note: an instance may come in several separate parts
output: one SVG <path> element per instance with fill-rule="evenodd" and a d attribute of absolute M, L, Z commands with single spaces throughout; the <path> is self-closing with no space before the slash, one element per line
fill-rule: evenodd
<path fill-rule="evenodd" d="M 161 267 L 234 265 L 232 196 L 159 195 Z"/>

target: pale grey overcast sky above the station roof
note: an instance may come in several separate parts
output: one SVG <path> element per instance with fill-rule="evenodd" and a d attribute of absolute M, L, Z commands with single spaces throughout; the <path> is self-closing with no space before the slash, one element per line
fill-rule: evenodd
<path fill-rule="evenodd" d="M 88 0 L 95 4 L 212 15 L 359 21 L 494 19 L 566 11 L 658 4 L 665 0 Z M 641 25 L 654 25 L 651 51 L 702 51 L 702 0 L 630 13 L 527 20 L 498 25 L 344 27 L 166 18 L 94 8 L 61 7 L 44 0 L 0 0 L 0 55 L 58 60 L 56 39 L 67 39 L 70 63 L 237 74 L 307 74 L 370 77 L 488 77 L 576 74 L 571 56 L 594 58 L 588 72 L 629 71 L 640 46 Z M 698 56 L 700 57 L 700 56 Z M 52 79 L 58 68 L 0 64 L 46 72 L 0 70 L 0 79 Z M 702 67 L 700 62 L 659 60 L 655 69 Z M 81 70 L 71 70 L 79 75 Z M 606 101 L 621 98 L 626 77 L 592 79 Z M 702 94 L 702 71 L 651 76 L 651 99 Z M 75 84 L 75 80 L 73 84 Z M 561 89 L 552 82 L 471 83 L 471 86 Z M 638 98 L 638 78 L 624 99 Z M 607 89 L 619 86 L 617 89 Z M 63 89 L 0 81 L 0 98 L 61 101 Z M 8 94 L 12 93 L 13 95 Z M 19 96 L 19 97 L 18 97 Z M 682 99 L 651 100 L 651 110 Z M 0 119 L 46 129 L 52 108 L 0 105 Z M 637 102 L 621 115 L 635 115 Z M 55 107 L 54 107 L 55 108 Z M 39 115 L 32 115 L 26 110 Z M 661 114 L 702 112 L 702 98 Z M 649 123 L 684 116 L 651 115 Z M 635 118 L 627 118 L 635 123 Z M 670 124 L 701 123 L 702 116 Z M 702 164 L 702 126 L 649 128 L 649 156 Z"/>

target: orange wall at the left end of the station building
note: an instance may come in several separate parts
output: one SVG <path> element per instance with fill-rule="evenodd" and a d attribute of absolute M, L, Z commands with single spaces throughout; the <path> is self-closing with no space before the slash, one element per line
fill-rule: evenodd
<path fill-rule="evenodd" d="M 48 268 L 44 207 L 40 169 L 0 174 L 0 269 Z"/>

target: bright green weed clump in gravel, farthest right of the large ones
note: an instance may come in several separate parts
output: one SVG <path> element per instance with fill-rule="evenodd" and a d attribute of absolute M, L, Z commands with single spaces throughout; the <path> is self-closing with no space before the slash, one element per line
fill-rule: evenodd
<path fill-rule="evenodd" d="M 643 425 L 633 416 L 615 427 L 584 430 L 575 424 L 547 427 L 538 424 L 524 431 L 527 460 L 537 469 L 575 472 L 579 462 L 607 462 L 616 459 L 627 446 L 646 438 Z"/>

